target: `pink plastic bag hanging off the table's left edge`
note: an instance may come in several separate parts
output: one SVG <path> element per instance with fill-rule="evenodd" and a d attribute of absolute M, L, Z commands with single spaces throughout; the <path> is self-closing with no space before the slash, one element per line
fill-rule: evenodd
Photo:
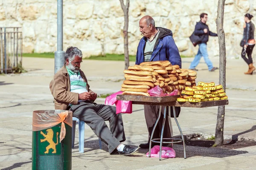
<path fill-rule="evenodd" d="M 116 105 L 116 114 L 118 113 L 132 113 L 132 102 L 124 100 L 116 100 L 116 95 L 122 94 L 122 91 L 118 91 L 106 97 L 105 105 Z"/>

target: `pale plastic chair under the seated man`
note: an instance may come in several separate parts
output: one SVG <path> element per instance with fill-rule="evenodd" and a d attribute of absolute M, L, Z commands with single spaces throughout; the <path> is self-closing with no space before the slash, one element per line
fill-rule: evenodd
<path fill-rule="evenodd" d="M 76 122 L 78 122 L 79 129 L 79 152 L 84 153 L 84 121 L 80 121 L 76 117 L 73 117 L 72 126 L 72 148 L 74 148 L 75 134 L 76 134 Z M 102 149 L 102 141 L 99 139 L 99 149 Z"/>

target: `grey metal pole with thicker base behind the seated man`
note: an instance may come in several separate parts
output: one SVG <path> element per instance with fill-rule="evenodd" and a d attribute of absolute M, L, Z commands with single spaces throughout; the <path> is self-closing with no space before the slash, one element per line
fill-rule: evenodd
<path fill-rule="evenodd" d="M 65 63 L 63 51 L 63 0 L 57 0 L 57 51 L 54 53 L 54 74 Z"/>

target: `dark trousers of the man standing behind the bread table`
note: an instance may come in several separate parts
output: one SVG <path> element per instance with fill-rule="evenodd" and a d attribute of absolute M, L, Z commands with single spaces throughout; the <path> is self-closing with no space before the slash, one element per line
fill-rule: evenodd
<path fill-rule="evenodd" d="M 163 114 L 164 114 L 164 106 L 162 106 L 161 109 L 161 117 L 157 123 L 156 129 L 154 131 L 153 134 L 153 138 L 160 138 L 161 136 L 161 131 L 162 131 L 162 125 L 163 125 Z M 172 107 L 171 107 L 172 109 Z M 145 114 L 145 120 L 146 120 L 146 124 L 148 127 L 148 143 L 150 142 L 150 136 L 151 133 L 153 131 L 154 125 L 157 122 L 157 117 L 158 117 L 158 113 L 160 110 L 160 106 L 158 105 L 144 105 L 144 114 Z M 175 112 L 176 112 L 176 116 L 178 117 L 178 115 L 180 114 L 180 107 L 175 107 Z M 167 121 L 167 116 L 169 111 L 168 109 L 166 110 L 166 122 L 165 122 L 165 126 L 164 126 L 164 131 L 163 131 L 163 138 L 170 138 L 171 137 L 171 132 L 170 132 L 170 128 L 169 128 L 169 121 Z M 173 117 L 173 111 L 171 110 L 171 116 Z"/>

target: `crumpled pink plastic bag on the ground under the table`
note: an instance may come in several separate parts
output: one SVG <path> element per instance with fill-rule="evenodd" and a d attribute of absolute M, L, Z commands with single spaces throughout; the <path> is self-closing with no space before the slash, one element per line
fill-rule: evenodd
<path fill-rule="evenodd" d="M 150 157 L 159 158 L 159 154 L 160 154 L 159 152 L 160 152 L 160 146 L 155 145 L 151 149 Z M 146 156 L 148 157 L 148 153 L 146 154 Z M 162 156 L 162 158 L 175 158 L 176 153 L 175 153 L 175 150 L 172 149 L 172 147 L 162 147 L 162 155 L 161 156 Z"/>

